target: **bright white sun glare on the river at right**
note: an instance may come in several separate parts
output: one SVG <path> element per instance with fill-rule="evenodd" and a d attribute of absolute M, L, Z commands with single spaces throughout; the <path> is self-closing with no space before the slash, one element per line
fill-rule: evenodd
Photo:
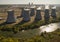
<path fill-rule="evenodd" d="M 51 23 L 48 25 L 44 25 L 44 26 L 41 26 L 39 29 L 40 29 L 40 32 L 44 32 L 44 31 L 53 32 L 58 28 L 60 28 L 60 23 Z"/>

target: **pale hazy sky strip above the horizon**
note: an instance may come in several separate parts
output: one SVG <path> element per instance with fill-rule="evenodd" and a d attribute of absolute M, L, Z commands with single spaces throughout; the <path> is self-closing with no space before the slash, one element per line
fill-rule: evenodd
<path fill-rule="evenodd" d="M 60 4 L 60 0 L 0 0 L 0 4 Z"/>

